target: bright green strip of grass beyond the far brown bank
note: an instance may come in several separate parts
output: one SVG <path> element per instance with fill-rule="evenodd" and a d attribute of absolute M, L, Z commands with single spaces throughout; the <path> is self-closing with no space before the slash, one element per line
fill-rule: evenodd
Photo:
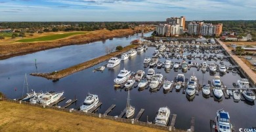
<path fill-rule="evenodd" d="M 56 39 L 63 39 L 65 37 L 70 37 L 72 35 L 81 35 L 85 34 L 86 32 L 74 32 L 74 33 L 63 33 L 63 34 L 56 34 L 56 35 L 47 35 L 44 37 L 37 37 L 33 39 L 20 39 L 16 42 L 35 42 L 35 41 L 54 41 Z"/>

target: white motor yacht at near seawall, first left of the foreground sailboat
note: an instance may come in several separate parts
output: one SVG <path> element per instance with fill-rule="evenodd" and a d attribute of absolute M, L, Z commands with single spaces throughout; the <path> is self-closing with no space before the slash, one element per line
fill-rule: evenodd
<path fill-rule="evenodd" d="M 89 110 L 91 110 L 91 108 L 96 107 L 98 101 L 98 95 L 93 95 L 89 93 L 85 97 L 85 101 L 83 101 L 83 105 L 81 105 L 80 110 L 83 112 L 88 112 Z"/>

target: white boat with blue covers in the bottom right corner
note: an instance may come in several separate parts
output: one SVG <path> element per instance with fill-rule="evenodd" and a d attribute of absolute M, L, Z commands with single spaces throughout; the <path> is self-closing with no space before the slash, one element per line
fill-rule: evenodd
<path fill-rule="evenodd" d="M 230 117 L 228 112 L 224 110 L 217 110 L 215 125 L 216 125 L 217 131 L 219 132 L 221 131 L 231 132 L 232 124 L 230 123 Z"/>

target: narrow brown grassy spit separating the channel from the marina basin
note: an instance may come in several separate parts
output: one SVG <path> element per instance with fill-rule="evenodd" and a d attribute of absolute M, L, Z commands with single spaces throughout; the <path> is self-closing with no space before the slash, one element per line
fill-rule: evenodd
<path fill-rule="evenodd" d="M 51 80 L 58 80 L 60 78 L 68 76 L 70 74 L 76 73 L 78 71 L 82 71 L 82 70 L 87 69 L 89 67 L 92 67 L 92 66 L 94 66 L 98 63 L 106 61 L 106 60 L 108 60 L 112 57 L 115 57 L 119 54 L 122 54 L 123 52 L 127 52 L 131 48 L 136 48 L 137 46 L 138 46 L 137 44 L 131 44 L 129 46 L 125 46 L 123 48 L 123 50 L 121 50 L 121 51 L 112 52 L 112 53 L 107 54 L 105 56 L 100 56 L 98 58 L 91 59 L 91 60 L 85 61 L 83 63 L 79 63 L 78 65 L 74 65 L 74 66 L 69 67 L 67 69 L 62 69 L 60 71 L 57 71 L 56 73 L 53 73 L 53 71 L 52 71 L 51 73 L 32 73 L 30 75 L 32 75 L 32 76 L 41 76 L 41 77 L 51 79 Z"/>

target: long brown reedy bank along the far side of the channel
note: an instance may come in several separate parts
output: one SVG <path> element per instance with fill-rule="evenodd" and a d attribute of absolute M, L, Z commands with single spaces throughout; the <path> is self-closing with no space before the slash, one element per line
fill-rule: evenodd
<path fill-rule="evenodd" d="M 70 46 L 76 44 L 87 44 L 90 42 L 102 41 L 115 37 L 125 37 L 127 35 L 134 35 L 139 33 L 139 28 L 133 29 L 117 29 L 108 31 L 106 29 L 92 31 L 85 35 L 74 35 L 68 39 L 59 39 L 56 41 L 44 41 L 44 42 L 18 42 L 12 44 L 0 44 L 0 60 L 12 58 L 15 56 L 22 56 L 39 52 L 43 50 L 49 50 L 52 48 L 60 48 L 63 46 Z M 144 30 L 145 33 L 150 29 Z"/>

